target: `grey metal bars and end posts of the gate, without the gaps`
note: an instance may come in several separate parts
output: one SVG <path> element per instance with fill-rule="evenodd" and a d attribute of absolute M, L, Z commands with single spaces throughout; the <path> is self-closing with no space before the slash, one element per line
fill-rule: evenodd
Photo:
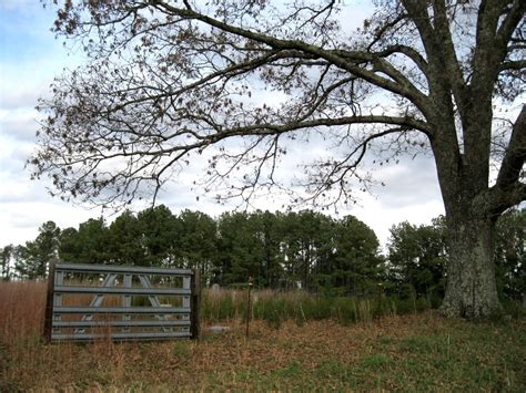
<path fill-rule="evenodd" d="M 180 313 L 180 314 L 188 314 L 190 317 L 190 334 L 181 334 L 181 338 L 189 338 L 193 340 L 199 340 L 200 339 L 200 302 L 201 302 L 201 276 L 198 269 L 169 269 L 169 268 L 146 268 L 146 267 L 138 267 L 138 266 L 123 266 L 123 265 L 88 265 L 88 263 L 62 263 L 59 262 L 58 260 L 52 260 L 49 265 L 49 272 L 48 272 L 48 290 L 47 290 L 47 297 L 45 297 L 45 319 L 44 319 L 44 327 L 43 327 L 43 338 L 44 340 L 49 342 L 54 342 L 54 341 L 93 341 L 95 339 L 92 338 L 82 338 L 79 335 L 78 339 L 74 337 L 72 338 L 53 338 L 53 329 L 57 329 L 53 324 L 54 321 L 60 319 L 59 313 L 57 312 L 57 309 L 61 308 L 61 299 L 60 296 L 62 293 L 81 293 L 79 291 L 75 291 L 74 289 L 80 289 L 80 287 L 71 287 L 71 289 L 68 289 L 68 286 L 63 286 L 63 278 L 58 278 L 58 275 L 63 275 L 63 272 L 85 272 L 85 273 L 101 273 L 104 275 L 107 273 L 108 277 L 110 275 L 122 275 L 124 278 L 124 287 L 111 287 L 111 286 L 103 286 L 103 287 L 85 287 L 87 289 L 83 290 L 83 292 L 89 292 L 92 293 L 94 297 L 92 299 L 92 302 L 95 301 L 98 296 L 104 296 L 104 292 L 108 294 L 115 294 L 115 296 L 121 296 L 123 298 L 123 307 L 120 309 L 130 309 L 132 310 L 133 307 L 130 304 L 130 296 L 133 294 L 132 292 L 134 290 L 136 291 L 136 294 L 142 294 L 142 296 L 148 296 L 150 302 L 158 301 L 156 296 L 160 294 L 159 292 L 166 292 L 166 294 L 172 294 L 172 296 L 183 296 L 190 298 L 189 304 L 183 308 L 166 308 L 165 310 L 163 309 L 162 311 L 164 312 L 159 312 L 159 317 L 161 314 L 168 314 L 168 313 Z M 131 288 L 130 282 L 128 282 L 132 275 L 135 276 L 148 276 L 148 275 L 153 275 L 153 276 L 169 276 L 169 277 L 183 277 L 183 288 L 178 288 L 178 289 L 166 289 L 160 290 L 155 288 L 149 288 L 143 285 L 142 288 Z M 185 278 L 190 279 L 190 288 L 184 289 L 185 285 Z M 142 281 L 142 279 L 141 279 Z M 60 287 L 59 287 L 60 283 Z M 141 282 L 143 283 L 143 282 Z M 59 290 L 57 290 L 59 288 Z M 84 287 L 82 287 L 84 288 Z M 101 292 L 98 292 L 97 289 L 101 288 L 103 289 Z M 110 289 L 111 288 L 111 289 Z M 125 293 L 119 293 L 119 289 L 123 289 Z M 148 289 L 151 289 L 153 293 L 149 293 Z M 179 293 L 180 292 L 180 293 Z M 59 296 L 59 297 L 58 297 Z M 59 299 L 59 300 L 58 300 Z M 184 301 L 184 300 L 183 300 Z M 98 313 L 97 309 L 100 308 L 94 306 L 94 307 L 85 307 L 81 309 L 85 309 L 82 312 L 78 312 L 84 316 L 89 316 Z M 90 310 L 88 310 L 90 309 Z M 188 312 L 185 310 L 188 309 Z M 104 312 L 104 311 L 101 311 Z M 68 314 L 67 311 L 62 311 L 61 313 Z M 100 312 L 99 312 L 100 313 Z M 135 312 L 134 312 L 135 313 Z M 139 312 L 140 313 L 140 312 Z M 145 313 L 155 313 L 155 312 L 148 312 Z M 125 312 L 122 312 L 123 317 L 125 317 Z M 128 314 L 129 316 L 129 314 Z M 123 319 L 125 321 L 127 318 Z M 113 322 L 118 322 L 113 320 Z M 133 324 L 131 322 L 130 324 Z M 111 323 L 109 323 L 111 325 Z M 172 327 L 176 325 L 174 323 Z M 73 328 L 73 325 L 71 325 Z M 122 328 L 120 325 L 119 328 Z M 124 327 L 125 328 L 125 327 Z M 141 333 L 138 333 L 138 337 L 132 337 L 133 333 L 130 333 L 130 337 L 121 337 L 121 338 L 115 338 L 111 333 L 109 338 L 114 341 L 122 341 L 122 340 L 136 340 L 140 341 Z M 155 333 L 158 334 L 158 333 Z M 122 334 L 121 334 L 122 335 Z M 178 333 L 172 333 L 171 335 L 166 333 L 166 335 L 158 334 L 158 337 L 150 335 L 148 337 L 148 340 L 169 340 L 179 337 Z"/>

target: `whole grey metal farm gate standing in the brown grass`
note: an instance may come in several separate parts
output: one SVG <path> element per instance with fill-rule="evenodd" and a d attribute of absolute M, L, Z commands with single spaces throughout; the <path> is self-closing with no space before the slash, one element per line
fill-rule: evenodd
<path fill-rule="evenodd" d="M 199 338 L 199 272 L 136 266 L 51 263 L 48 341 Z"/>

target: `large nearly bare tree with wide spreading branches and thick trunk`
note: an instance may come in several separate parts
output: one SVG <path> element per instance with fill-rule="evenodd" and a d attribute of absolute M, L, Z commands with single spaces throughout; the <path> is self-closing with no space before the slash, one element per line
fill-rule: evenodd
<path fill-rule="evenodd" d="M 494 115 L 524 99 L 525 9 L 385 1 L 350 34 L 334 0 L 64 1 L 55 31 L 88 61 L 39 104 L 48 117 L 29 163 L 63 198 L 117 204 L 155 198 L 206 157 L 206 190 L 250 199 L 285 187 L 280 157 L 314 138 L 334 149 L 301 183 L 337 204 L 367 187 L 367 151 L 387 161 L 427 146 L 454 234 L 442 310 L 488 316 L 495 220 L 526 198 L 526 107 L 509 123 Z"/>

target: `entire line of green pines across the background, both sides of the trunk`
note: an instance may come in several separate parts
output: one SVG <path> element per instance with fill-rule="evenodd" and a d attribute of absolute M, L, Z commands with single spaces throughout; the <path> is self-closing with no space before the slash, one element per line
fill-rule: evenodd
<path fill-rule="evenodd" d="M 497 225 L 495 262 L 500 294 L 518 299 L 526 288 L 526 209 Z M 299 213 L 172 214 L 163 205 L 122 213 L 107 224 L 89 219 L 60 229 L 53 221 L 34 240 L 2 249 L 4 279 L 44 278 L 52 258 L 74 263 L 114 263 L 199 269 L 206 285 L 253 279 L 257 288 L 330 294 L 367 294 L 378 288 L 439 302 L 447 280 L 444 217 L 429 225 L 391 228 L 382 252 L 375 232 L 354 216 L 336 219 Z"/>

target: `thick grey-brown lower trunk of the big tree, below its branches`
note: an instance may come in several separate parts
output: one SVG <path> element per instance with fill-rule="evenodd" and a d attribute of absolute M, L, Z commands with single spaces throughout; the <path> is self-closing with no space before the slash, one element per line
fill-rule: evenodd
<path fill-rule="evenodd" d="M 449 261 L 441 311 L 446 317 L 487 318 L 502 309 L 495 280 L 495 223 L 456 216 L 448 217 Z"/>

